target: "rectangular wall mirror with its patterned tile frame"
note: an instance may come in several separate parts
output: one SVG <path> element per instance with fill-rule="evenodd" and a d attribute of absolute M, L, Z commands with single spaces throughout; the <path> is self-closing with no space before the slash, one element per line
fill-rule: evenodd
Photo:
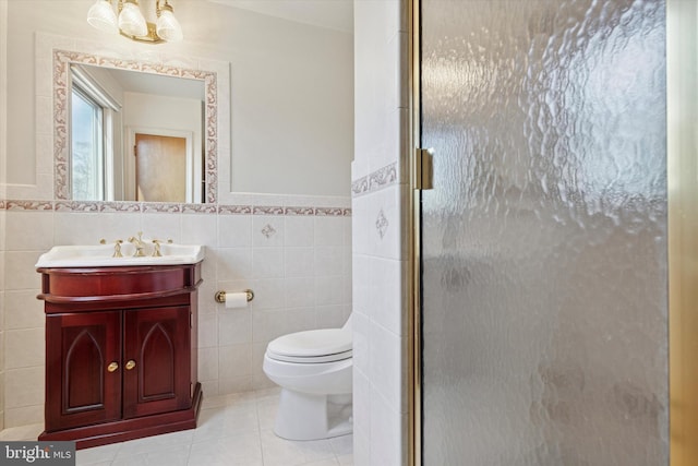
<path fill-rule="evenodd" d="M 61 50 L 53 63 L 57 199 L 216 202 L 216 73 Z"/>

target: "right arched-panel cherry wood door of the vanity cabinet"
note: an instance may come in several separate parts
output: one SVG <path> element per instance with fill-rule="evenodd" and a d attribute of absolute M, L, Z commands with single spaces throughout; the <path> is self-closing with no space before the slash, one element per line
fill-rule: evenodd
<path fill-rule="evenodd" d="M 191 407 L 190 308 L 124 311 L 123 417 Z"/>

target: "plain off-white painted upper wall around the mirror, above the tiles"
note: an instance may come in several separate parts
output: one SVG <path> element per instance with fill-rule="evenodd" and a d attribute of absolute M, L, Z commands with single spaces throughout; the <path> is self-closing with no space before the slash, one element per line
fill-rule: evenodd
<path fill-rule="evenodd" d="M 34 35 L 94 38 L 85 21 L 92 0 L 8 3 L 9 183 L 33 184 L 50 167 L 34 147 Z M 230 63 L 232 192 L 348 195 L 353 153 L 353 60 L 350 34 L 201 0 L 179 0 L 185 38 L 145 46 L 117 36 L 139 56 L 164 53 Z M 230 162 L 230 160 L 228 160 Z M 221 165 L 222 167 L 224 165 Z"/>

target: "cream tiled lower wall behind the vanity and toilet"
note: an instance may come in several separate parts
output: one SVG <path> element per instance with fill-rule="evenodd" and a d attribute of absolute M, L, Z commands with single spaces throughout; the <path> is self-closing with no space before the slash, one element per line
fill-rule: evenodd
<path fill-rule="evenodd" d="M 236 205 L 0 200 L 4 427 L 43 422 L 44 311 L 34 264 L 55 244 L 143 231 L 145 238 L 206 247 L 198 298 L 204 396 L 273 386 L 262 371 L 270 339 L 341 325 L 351 312 L 350 200 L 260 198 Z M 245 288 L 255 292 L 248 309 L 214 300 L 219 289 Z"/>

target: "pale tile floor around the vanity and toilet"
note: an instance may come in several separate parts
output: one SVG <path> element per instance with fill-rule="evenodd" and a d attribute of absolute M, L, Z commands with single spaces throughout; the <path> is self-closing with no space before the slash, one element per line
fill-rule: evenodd
<path fill-rule="evenodd" d="M 206 397 L 193 430 L 77 451 L 77 465 L 351 466 L 352 437 L 291 442 L 272 431 L 278 390 Z M 0 440 L 36 440 L 41 425 L 5 429 Z"/>

